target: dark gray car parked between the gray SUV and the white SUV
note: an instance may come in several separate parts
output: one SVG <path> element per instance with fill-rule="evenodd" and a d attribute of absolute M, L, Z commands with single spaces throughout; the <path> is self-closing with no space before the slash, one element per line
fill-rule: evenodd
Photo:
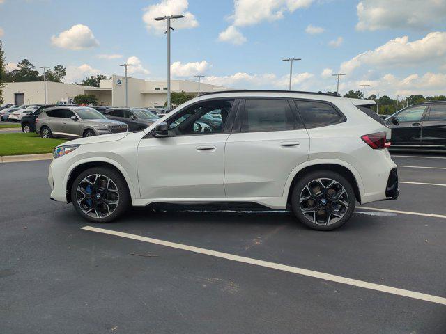
<path fill-rule="evenodd" d="M 150 111 L 137 108 L 116 108 L 106 111 L 104 115 L 112 120 L 120 120 L 128 125 L 128 131 L 141 131 L 160 118 Z"/>

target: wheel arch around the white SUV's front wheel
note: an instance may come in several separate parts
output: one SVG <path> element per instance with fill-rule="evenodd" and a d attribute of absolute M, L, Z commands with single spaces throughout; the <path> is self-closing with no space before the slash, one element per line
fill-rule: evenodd
<path fill-rule="evenodd" d="M 66 189 L 66 200 L 68 203 L 71 202 L 71 186 L 73 182 L 75 181 L 76 177 L 80 175 L 84 170 L 87 170 L 89 168 L 93 167 L 108 167 L 115 170 L 117 173 L 119 173 L 125 180 L 125 184 L 127 185 L 128 191 L 130 193 L 130 198 L 133 199 L 136 198 L 136 192 L 134 190 L 133 184 L 130 180 L 130 177 L 128 173 L 125 171 L 125 169 L 116 161 L 113 161 L 112 159 L 102 159 L 102 160 L 92 160 L 92 159 L 86 159 L 83 161 L 79 161 L 76 165 L 71 166 L 70 170 L 68 170 L 68 173 L 66 173 L 66 180 L 64 182 L 65 189 Z"/>

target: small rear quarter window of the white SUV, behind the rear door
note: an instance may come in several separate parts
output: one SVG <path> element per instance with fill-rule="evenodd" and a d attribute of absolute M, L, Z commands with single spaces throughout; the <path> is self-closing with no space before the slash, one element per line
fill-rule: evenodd
<path fill-rule="evenodd" d="M 325 127 L 344 120 L 334 107 L 324 102 L 296 101 L 306 127 Z"/>

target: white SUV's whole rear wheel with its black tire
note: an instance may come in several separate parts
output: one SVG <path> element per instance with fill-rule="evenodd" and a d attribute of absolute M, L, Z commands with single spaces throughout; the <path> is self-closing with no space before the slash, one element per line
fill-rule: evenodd
<path fill-rule="evenodd" d="M 319 189 L 321 189 L 321 194 L 320 196 L 316 197 L 314 196 L 314 189 L 318 189 L 317 184 L 321 183 L 317 180 L 321 179 L 322 179 L 322 185 L 319 187 Z M 334 183 L 334 185 L 330 188 L 328 187 L 328 185 L 331 182 L 328 180 L 332 180 L 336 183 Z M 310 186 L 307 187 L 308 189 L 307 190 L 305 189 L 305 187 L 308 184 L 310 184 Z M 314 186 L 314 184 L 316 184 L 316 186 Z M 328 188 L 325 188 L 325 186 L 327 186 Z M 310 187 L 312 188 L 311 190 L 312 193 L 309 193 Z M 341 190 L 341 187 L 344 187 L 345 193 L 344 191 Z M 332 198 L 332 194 L 337 194 L 341 192 L 343 193 L 343 195 L 340 198 L 340 200 L 342 202 L 347 202 L 348 204 L 347 207 L 341 204 L 339 200 L 334 199 L 334 197 L 336 196 L 333 196 Z M 307 194 L 313 196 L 316 199 L 312 197 L 307 200 L 302 200 L 301 203 L 301 195 L 302 198 L 308 198 L 309 196 L 306 196 Z M 313 206 L 309 205 L 312 204 L 311 201 L 314 202 Z M 320 230 L 320 231 L 334 230 L 336 228 L 339 228 L 341 225 L 344 225 L 348 221 L 348 219 L 351 218 L 351 215 L 355 210 L 355 204 L 356 204 L 355 192 L 353 191 L 353 186 L 351 185 L 351 183 L 348 182 L 348 180 L 346 180 L 346 178 L 343 177 L 342 175 L 332 172 L 331 170 L 318 170 L 312 173 L 308 173 L 307 175 L 304 175 L 295 184 L 291 196 L 291 205 L 293 207 L 293 212 L 296 218 L 298 218 L 298 221 L 304 223 L 313 230 Z M 311 212 L 312 209 L 314 208 L 320 208 L 320 209 L 313 210 L 313 212 Z M 339 211 L 336 211 L 334 208 L 336 209 L 339 208 Z M 309 212 L 304 214 L 303 211 L 309 211 Z M 334 216 L 334 214 L 337 214 L 338 216 Z M 339 218 L 340 215 L 341 218 Z M 333 219 L 334 222 L 330 223 L 330 217 L 332 216 L 334 217 Z M 319 221 L 319 219 L 321 220 L 323 219 L 325 223 L 323 221 Z"/>

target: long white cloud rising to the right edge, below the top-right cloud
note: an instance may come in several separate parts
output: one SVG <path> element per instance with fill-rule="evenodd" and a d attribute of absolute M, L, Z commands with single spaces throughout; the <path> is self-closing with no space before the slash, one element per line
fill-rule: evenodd
<path fill-rule="evenodd" d="M 428 33 L 421 40 L 409 42 L 408 36 L 395 38 L 374 50 L 358 54 L 341 64 L 341 72 L 350 73 L 361 65 L 394 66 L 419 65 L 433 60 L 444 60 L 446 32 Z"/>

